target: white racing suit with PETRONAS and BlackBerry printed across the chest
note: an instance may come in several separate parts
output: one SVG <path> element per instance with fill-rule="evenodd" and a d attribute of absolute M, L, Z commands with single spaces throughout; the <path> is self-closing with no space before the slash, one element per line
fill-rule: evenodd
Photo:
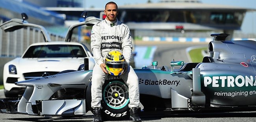
<path fill-rule="evenodd" d="M 106 55 L 112 50 L 122 52 L 127 64 L 130 64 L 132 55 L 132 38 L 130 29 L 120 21 L 110 22 L 103 20 L 95 24 L 91 31 L 91 50 L 96 64 L 93 68 L 91 85 L 91 107 L 101 107 L 102 85 L 108 74 L 100 68 L 105 64 Z M 130 104 L 128 107 L 139 107 L 139 81 L 134 69 L 128 65 L 127 71 L 120 78 L 128 85 Z"/>

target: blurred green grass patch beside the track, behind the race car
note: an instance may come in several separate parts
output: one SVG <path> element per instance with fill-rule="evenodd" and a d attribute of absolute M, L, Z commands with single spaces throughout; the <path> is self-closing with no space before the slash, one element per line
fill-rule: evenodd
<path fill-rule="evenodd" d="M 207 47 L 192 49 L 189 51 L 189 56 L 191 57 L 192 62 L 202 62 L 204 58 L 201 53 L 202 50 L 207 50 Z"/>

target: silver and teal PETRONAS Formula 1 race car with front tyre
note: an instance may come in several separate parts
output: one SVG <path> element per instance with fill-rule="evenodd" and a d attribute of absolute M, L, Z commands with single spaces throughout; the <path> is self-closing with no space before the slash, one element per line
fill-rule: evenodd
<path fill-rule="evenodd" d="M 152 66 L 134 69 L 139 78 L 140 110 L 202 111 L 243 110 L 256 107 L 256 42 L 225 40 L 212 34 L 209 56 L 200 63 L 171 62 L 171 69 Z M 84 60 L 85 67 L 90 64 Z M 181 66 L 174 69 L 174 66 Z M 152 67 L 152 68 L 150 68 Z M 154 68 L 153 68 L 154 67 Z M 89 69 L 89 68 L 85 68 Z M 39 116 L 86 115 L 91 109 L 92 70 L 64 71 L 16 82 L 26 86 L 21 98 L 1 98 L 2 113 Z M 128 86 L 119 76 L 108 76 L 102 86 L 102 117 L 120 120 L 129 116 Z"/>

